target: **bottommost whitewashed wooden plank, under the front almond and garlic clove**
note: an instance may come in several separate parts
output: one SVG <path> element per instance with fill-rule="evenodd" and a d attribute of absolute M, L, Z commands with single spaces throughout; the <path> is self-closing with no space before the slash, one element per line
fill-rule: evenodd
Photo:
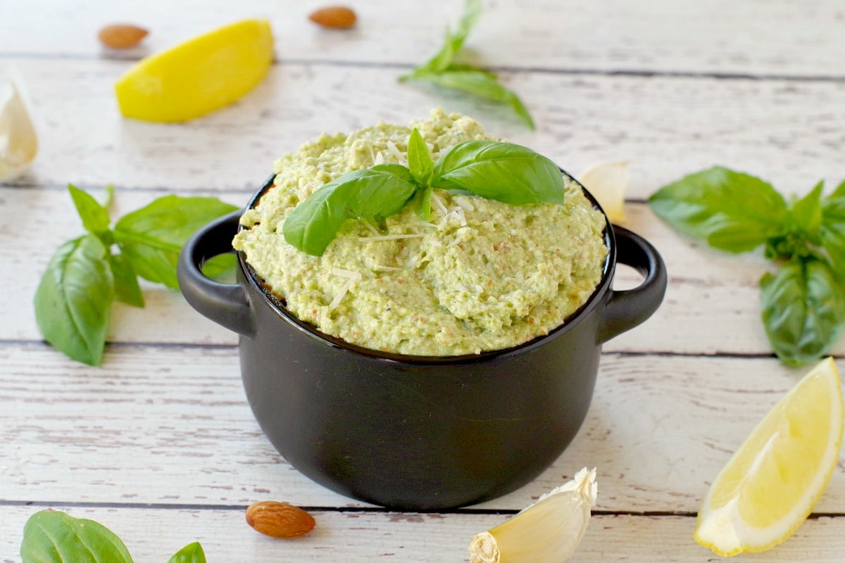
<path fill-rule="evenodd" d="M 0 507 L 0 552 L 14 563 L 27 518 L 41 507 Z M 166 561 L 183 545 L 199 541 L 210 561 L 349 561 L 410 560 L 431 563 L 467 561 L 467 546 L 476 533 L 503 522 L 493 514 L 414 514 L 313 512 L 316 528 L 307 536 L 277 540 L 248 527 L 243 510 L 160 509 L 56 505 L 74 517 L 100 522 L 123 539 L 136 561 Z M 591 518 L 572 563 L 597 560 L 717 560 L 692 539 L 694 517 L 597 515 Z M 841 563 L 845 517 L 812 518 L 787 542 L 762 554 L 760 563 Z"/>

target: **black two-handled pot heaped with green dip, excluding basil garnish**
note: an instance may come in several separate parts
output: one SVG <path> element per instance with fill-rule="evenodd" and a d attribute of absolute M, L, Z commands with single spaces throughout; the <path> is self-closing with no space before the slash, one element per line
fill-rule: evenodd
<path fill-rule="evenodd" d="M 491 139 L 442 111 L 413 126 L 435 157 Z M 243 214 L 188 242 L 179 280 L 241 335 L 248 401 L 289 463 L 362 501 L 433 510 L 504 495 L 559 457 L 586 417 L 601 344 L 651 316 L 666 273 L 564 172 L 562 204 L 435 190 L 427 218 L 408 206 L 348 219 L 320 256 L 287 244 L 297 205 L 349 171 L 403 164 L 410 132 L 380 124 L 286 155 Z M 233 248 L 237 284 L 204 277 Z M 614 291 L 617 262 L 642 284 Z"/>

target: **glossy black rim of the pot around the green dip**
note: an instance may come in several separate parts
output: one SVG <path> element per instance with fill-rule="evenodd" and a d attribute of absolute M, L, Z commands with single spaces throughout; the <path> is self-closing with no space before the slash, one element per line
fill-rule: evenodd
<path fill-rule="evenodd" d="M 331 336 L 330 334 L 326 334 L 319 331 L 319 329 L 316 328 L 313 324 L 309 322 L 304 322 L 297 318 L 295 315 L 293 315 L 291 312 L 287 311 L 285 304 L 270 290 L 267 289 L 266 285 L 264 284 L 264 281 L 260 278 L 259 274 L 256 273 L 252 266 L 247 263 L 246 255 L 243 251 L 237 252 L 237 260 L 244 274 L 244 278 L 248 280 L 249 285 L 254 291 L 259 292 L 264 296 L 265 303 L 270 306 L 270 308 L 275 312 L 278 317 L 281 317 L 281 320 L 283 322 L 287 322 L 292 326 L 292 328 L 296 328 L 297 331 L 303 333 L 303 335 L 307 336 L 308 338 L 318 340 L 319 342 L 332 348 L 343 349 L 353 354 L 368 356 L 373 360 L 384 360 L 386 362 L 397 362 L 402 364 L 415 365 L 452 365 L 483 362 L 497 359 L 504 360 L 505 358 L 510 356 L 524 354 L 532 349 L 542 346 L 543 344 L 547 344 L 548 342 L 551 342 L 563 336 L 565 333 L 570 332 L 570 330 L 580 324 L 582 319 L 588 317 L 591 314 L 591 311 L 596 309 L 599 302 L 602 300 L 602 296 L 606 295 L 608 291 L 611 290 L 611 285 L 613 284 L 613 273 L 616 268 L 616 240 L 613 236 L 613 225 L 611 225 L 610 219 L 608 219 L 608 215 L 604 213 L 602 206 L 599 205 L 597 199 L 593 197 L 593 195 L 586 189 L 586 187 L 584 187 L 580 181 L 575 180 L 573 176 L 571 176 L 563 169 L 561 169 L 560 172 L 561 174 L 566 176 L 570 181 L 574 181 L 575 184 L 581 187 L 581 191 L 584 192 L 586 198 L 590 200 L 592 207 L 600 211 L 604 216 L 604 244 L 608 248 L 608 255 L 607 257 L 605 257 L 604 265 L 602 267 L 602 279 L 599 280 L 599 283 L 596 285 L 596 289 L 593 290 L 590 297 L 588 297 L 587 300 L 578 309 L 576 309 L 568 317 L 566 317 L 564 321 L 559 324 L 558 327 L 553 328 L 547 334 L 541 334 L 522 344 L 511 346 L 510 348 L 488 350 L 479 354 L 432 356 L 384 352 L 382 350 L 365 348 L 363 346 L 359 346 L 358 344 L 352 344 L 346 342 L 346 340 L 343 340 L 341 338 L 337 338 L 335 336 Z M 246 211 L 247 209 L 254 208 L 256 205 L 258 205 L 264 193 L 266 193 L 270 190 L 271 187 L 273 187 L 274 180 L 275 174 L 271 175 L 266 181 L 264 181 L 264 184 L 259 188 L 259 191 L 255 192 L 253 198 L 249 200 L 246 207 L 244 208 L 244 211 Z M 243 225 L 238 225 L 238 232 L 244 229 L 245 227 Z"/>

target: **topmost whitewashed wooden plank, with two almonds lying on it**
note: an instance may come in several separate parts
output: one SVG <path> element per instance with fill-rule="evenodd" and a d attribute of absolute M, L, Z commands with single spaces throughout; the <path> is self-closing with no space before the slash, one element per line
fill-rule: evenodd
<path fill-rule="evenodd" d="M 313 3 L 254 0 L 232 5 L 191 0 L 60 5 L 30 0 L 24 14 L 0 7 L 3 53 L 49 57 L 141 57 L 241 18 L 270 19 L 275 53 L 283 61 L 381 62 L 401 66 L 431 57 L 447 25 L 461 14 L 460 2 L 433 9 L 428 3 L 357 3 L 359 22 L 346 32 L 320 30 L 307 20 Z M 484 2 L 485 12 L 466 47 L 467 59 L 485 66 L 680 73 L 845 75 L 843 14 L 837 0 L 812 9 L 785 0 L 674 3 L 561 3 L 542 0 L 520 6 Z M 43 14 L 63 25 L 45 26 Z M 111 53 L 96 41 L 103 24 L 132 22 L 151 34 L 143 47 Z M 20 33 L 19 30 L 31 30 Z M 49 30 L 49 31 L 48 31 Z"/>

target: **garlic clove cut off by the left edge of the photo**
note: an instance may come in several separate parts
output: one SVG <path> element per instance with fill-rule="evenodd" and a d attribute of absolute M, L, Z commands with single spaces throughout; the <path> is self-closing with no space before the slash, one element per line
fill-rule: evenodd
<path fill-rule="evenodd" d="M 38 153 L 38 137 L 16 73 L 0 83 L 0 181 L 24 173 Z"/>

